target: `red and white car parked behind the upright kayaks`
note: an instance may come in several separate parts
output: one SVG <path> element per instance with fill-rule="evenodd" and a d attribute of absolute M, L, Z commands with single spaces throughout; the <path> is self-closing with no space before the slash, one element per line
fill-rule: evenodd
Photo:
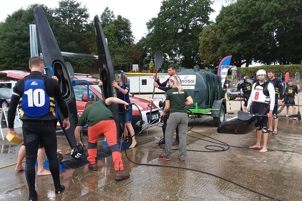
<path fill-rule="evenodd" d="M 29 72 L 23 71 L 0 71 L 0 80 L 7 80 L 7 78 L 9 78 L 17 81 L 28 74 Z M 87 95 L 85 95 L 87 94 L 87 84 L 85 84 L 85 82 L 77 82 L 76 80 L 87 80 L 89 82 L 90 100 L 101 100 L 102 91 L 97 85 L 100 81 L 98 77 L 91 76 L 89 74 L 75 73 L 74 81 L 76 85 L 73 86 L 73 88 L 76 96 L 77 114 L 80 117 L 85 110 L 85 104 L 87 101 Z M 159 109 L 154 104 L 152 106 L 152 114 L 150 115 L 151 101 L 134 96 L 130 97 L 130 101 L 131 103 L 134 103 L 132 106 L 132 127 L 134 128 L 135 133 L 139 133 L 142 130 L 147 129 L 149 121 L 149 128 L 160 124 Z M 57 123 L 57 125 L 60 127 L 59 123 Z"/>

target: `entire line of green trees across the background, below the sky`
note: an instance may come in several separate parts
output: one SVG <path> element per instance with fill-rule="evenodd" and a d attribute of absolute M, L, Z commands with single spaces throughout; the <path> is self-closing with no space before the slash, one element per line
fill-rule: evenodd
<path fill-rule="evenodd" d="M 163 0 L 157 17 L 146 24 L 148 34 L 136 44 L 131 21 L 107 7 L 99 16 L 115 70 L 127 71 L 133 63 L 148 65 L 157 51 L 164 53 L 163 69 L 170 63 L 215 68 L 226 55 L 232 55 L 231 65 L 237 67 L 302 63 L 301 0 L 227 2 L 212 22 L 213 0 Z M 0 23 L 0 70 L 28 70 L 29 24 L 35 22 L 36 6 L 43 8 L 61 51 L 96 54 L 86 6 L 77 0 L 61 0 L 57 8 L 31 4 Z M 64 59 L 77 73 L 98 69 L 95 60 Z"/>

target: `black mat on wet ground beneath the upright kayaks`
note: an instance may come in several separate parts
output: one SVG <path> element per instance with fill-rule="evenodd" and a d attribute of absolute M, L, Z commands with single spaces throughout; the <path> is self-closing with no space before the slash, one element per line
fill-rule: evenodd
<path fill-rule="evenodd" d="M 122 150 L 124 150 L 124 149 L 122 149 Z M 70 155 L 70 154 L 67 154 L 67 155 Z M 96 160 L 98 160 L 98 159 L 104 159 L 104 158 L 106 158 L 108 156 L 111 156 L 111 155 L 112 155 L 112 152 L 111 152 L 111 150 L 110 150 L 109 147 L 103 148 L 103 149 L 98 149 L 97 150 Z M 88 156 L 87 149 L 85 149 L 85 156 L 86 157 L 84 157 L 84 158 L 82 158 L 80 160 L 76 160 L 76 159 L 72 158 L 72 159 L 63 161 L 62 163 L 66 164 L 67 168 L 76 169 L 78 167 L 84 166 L 85 164 L 89 164 L 89 162 L 87 161 L 87 156 Z"/>

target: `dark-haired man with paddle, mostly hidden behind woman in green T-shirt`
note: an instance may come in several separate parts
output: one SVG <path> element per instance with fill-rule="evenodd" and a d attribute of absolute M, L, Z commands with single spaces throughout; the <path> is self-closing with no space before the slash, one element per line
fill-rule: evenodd
<path fill-rule="evenodd" d="M 174 64 L 170 64 L 168 66 L 168 73 L 170 76 L 172 75 L 176 75 L 176 66 Z M 155 75 L 154 75 L 155 76 Z M 154 78 L 154 77 L 153 77 Z M 169 84 L 169 78 L 163 82 L 163 83 L 160 83 L 159 82 L 159 78 L 156 77 L 156 82 L 153 83 L 153 86 L 162 90 L 162 91 L 168 91 L 171 89 L 170 87 L 170 84 Z M 165 96 L 166 96 L 166 92 L 165 92 Z M 163 104 L 163 109 L 165 108 L 165 102 Z M 169 110 L 170 111 L 170 110 Z M 170 112 L 167 112 L 167 114 L 165 116 L 162 116 L 161 117 L 161 120 L 163 121 L 163 126 L 162 126 L 162 129 L 163 129 L 163 135 L 164 135 L 164 139 L 161 140 L 158 144 L 159 145 L 164 145 L 166 142 L 165 142 L 165 133 L 166 133 L 166 128 L 167 128 L 167 120 L 169 118 L 169 115 L 170 115 Z M 172 145 L 178 145 L 179 144 L 179 136 L 178 136 L 178 128 L 176 128 L 176 138 L 175 138 L 175 141 L 173 142 Z"/>

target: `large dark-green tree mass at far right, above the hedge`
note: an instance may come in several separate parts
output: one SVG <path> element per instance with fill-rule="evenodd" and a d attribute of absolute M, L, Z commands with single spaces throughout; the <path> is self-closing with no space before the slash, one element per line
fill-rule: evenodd
<path fill-rule="evenodd" d="M 219 55 L 232 55 L 237 67 L 253 60 L 302 62 L 301 0 L 237 0 L 216 18 Z"/>

